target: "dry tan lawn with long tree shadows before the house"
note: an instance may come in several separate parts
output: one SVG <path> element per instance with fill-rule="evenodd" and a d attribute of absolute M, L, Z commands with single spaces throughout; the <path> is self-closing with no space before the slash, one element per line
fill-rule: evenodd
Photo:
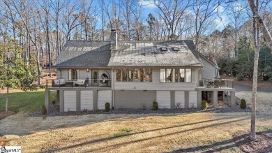
<path fill-rule="evenodd" d="M 20 111 L 34 110 L 34 106 L 28 106 L 38 101 L 38 97 L 41 102 L 37 103 L 43 105 L 41 92 L 43 90 L 16 92 L 32 95 L 32 98 L 24 97 L 29 94 L 21 96 L 21 99 L 27 99 L 24 101 L 32 102 L 26 102 L 29 104 L 22 105 Z M 236 95 L 249 101 L 246 98 L 250 97 L 250 92 Z M 272 136 L 271 103 L 271 93 L 258 93 L 256 129 Z M 22 152 L 242 152 L 232 136 L 250 131 L 250 112 L 90 114 L 46 118 L 18 113 L 1 119 L 0 125 L 3 142 L 22 146 Z"/>

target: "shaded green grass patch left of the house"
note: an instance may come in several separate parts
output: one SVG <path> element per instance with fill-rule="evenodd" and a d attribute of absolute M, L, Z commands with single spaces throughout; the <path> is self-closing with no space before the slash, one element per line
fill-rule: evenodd
<path fill-rule="evenodd" d="M 0 94 L 0 112 L 6 109 L 6 94 Z M 56 92 L 50 92 L 50 100 L 55 99 Z M 24 92 L 20 89 L 11 89 L 8 98 L 8 111 L 33 112 L 45 103 L 45 89 Z"/>

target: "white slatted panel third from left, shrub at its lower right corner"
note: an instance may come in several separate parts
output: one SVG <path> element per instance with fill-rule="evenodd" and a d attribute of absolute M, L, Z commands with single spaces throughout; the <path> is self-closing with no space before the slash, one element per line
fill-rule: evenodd
<path fill-rule="evenodd" d="M 98 90 L 98 110 L 105 110 L 105 103 L 112 108 L 112 90 Z"/>

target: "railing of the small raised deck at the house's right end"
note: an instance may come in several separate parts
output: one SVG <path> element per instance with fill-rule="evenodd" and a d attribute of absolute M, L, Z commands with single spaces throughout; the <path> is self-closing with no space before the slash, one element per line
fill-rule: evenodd
<path fill-rule="evenodd" d="M 234 88 L 233 81 L 234 80 L 227 80 L 227 79 L 197 80 L 197 88 L 198 87 L 204 87 L 204 88 Z"/>

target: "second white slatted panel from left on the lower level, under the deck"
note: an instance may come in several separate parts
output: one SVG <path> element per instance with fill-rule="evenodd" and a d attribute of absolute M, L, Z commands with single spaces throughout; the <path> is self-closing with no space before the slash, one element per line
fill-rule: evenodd
<path fill-rule="evenodd" d="M 80 110 L 93 110 L 92 90 L 82 90 L 80 92 Z"/>

